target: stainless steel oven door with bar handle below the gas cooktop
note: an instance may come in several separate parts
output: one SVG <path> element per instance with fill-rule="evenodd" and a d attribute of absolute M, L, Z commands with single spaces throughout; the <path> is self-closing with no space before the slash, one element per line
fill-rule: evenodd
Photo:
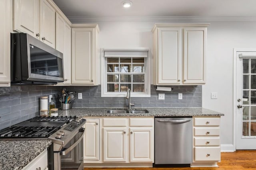
<path fill-rule="evenodd" d="M 85 130 L 80 129 L 80 132 L 74 136 L 71 141 L 64 146 L 61 152 L 61 169 L 62 170 L 83 170 L 84 155 L 83 155 L 83 140 Z"/>

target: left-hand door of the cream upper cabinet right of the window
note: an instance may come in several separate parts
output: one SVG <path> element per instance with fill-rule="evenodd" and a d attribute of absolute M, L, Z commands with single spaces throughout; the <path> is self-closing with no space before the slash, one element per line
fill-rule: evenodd
<path fill-rule="evenodd" d="M 182 83 L 182 29 L 158 29 L 158 83 Z"/>

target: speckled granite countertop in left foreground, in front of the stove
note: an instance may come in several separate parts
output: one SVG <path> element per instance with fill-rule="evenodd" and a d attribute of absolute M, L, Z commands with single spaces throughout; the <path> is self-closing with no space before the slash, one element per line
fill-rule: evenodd
<path fill-rule="evenodd" d="M 0 141 L 0 170 L 21 170 L 52 141 Z"/>

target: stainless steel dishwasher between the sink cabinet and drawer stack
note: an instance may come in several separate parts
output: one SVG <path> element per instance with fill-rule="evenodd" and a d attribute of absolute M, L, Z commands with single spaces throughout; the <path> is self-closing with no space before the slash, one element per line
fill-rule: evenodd
<path fill-rule="evenodd" d="M 192 117 L 156 117 L 154 167 L 189 167 L 191 163 Z"/>

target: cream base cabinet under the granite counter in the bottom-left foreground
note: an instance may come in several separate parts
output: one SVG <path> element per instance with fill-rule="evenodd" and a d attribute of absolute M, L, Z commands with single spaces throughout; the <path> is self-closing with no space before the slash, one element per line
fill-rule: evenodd
<path fill-rule="evenodd" d="M 47 149 L 34 158 L 22 170 L 48 170 Z"/>

